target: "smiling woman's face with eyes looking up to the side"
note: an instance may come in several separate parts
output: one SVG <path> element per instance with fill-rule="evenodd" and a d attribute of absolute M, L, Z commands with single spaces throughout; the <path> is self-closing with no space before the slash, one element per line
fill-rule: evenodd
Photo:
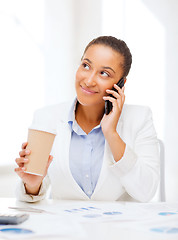
<path fill-rule="evenodd" d="M 122 78 L 123 60 L 122 55 L 108 46 L 95 44 L 89 47 L 76 72 L 75 87 L 79 103 L 104 106 L 106 89 L 111 89 Z"/>

